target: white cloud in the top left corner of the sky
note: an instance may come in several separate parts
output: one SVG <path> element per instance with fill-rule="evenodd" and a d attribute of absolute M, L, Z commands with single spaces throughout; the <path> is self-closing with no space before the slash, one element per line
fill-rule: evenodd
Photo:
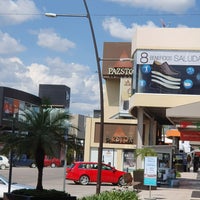
<path fill-rule="evenodd" d="M 38 17 L 39 10 L 32 0 L 1 0 L 0 13 L 7 24 L 19 24 Z"/>

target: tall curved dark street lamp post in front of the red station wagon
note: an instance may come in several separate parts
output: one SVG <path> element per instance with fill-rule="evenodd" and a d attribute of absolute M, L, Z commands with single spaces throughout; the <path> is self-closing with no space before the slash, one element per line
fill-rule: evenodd
<path fill-rule="evenodd" d="M 103 98 L 103 83 L 102 83 L 102 72 L 100 66 L 100 58 L 94 33 L 94 28 L 90 16 L 90 12 L 87 6 L 86 0 L 83 0 L 86 15 L 76 15 L 76 14 L 55 14 L 55 13 L 45 13 L 47 17 L 86 17 L 89 21 L 90 31 L 92 34 L 92 40 L 95 50 L 95 57 L 96 57 L 96 64 L 97 64 L 97 71 L 98 71 L 98 78 L 99 78 L 99 95 L 100 95 L 100 111 L 101 111 L 101 118 L 100 118 L 100 134 L 99 134 L 99 147 L 98 147 L 98 175 L 97 175 L 97 186 L 96 186 L 96 194 L 100 193 L 101 190 L 101 168 L 102 168 L 102 151 L 103 151 L 103 136 L 104 136 L 104 98 Z"/>

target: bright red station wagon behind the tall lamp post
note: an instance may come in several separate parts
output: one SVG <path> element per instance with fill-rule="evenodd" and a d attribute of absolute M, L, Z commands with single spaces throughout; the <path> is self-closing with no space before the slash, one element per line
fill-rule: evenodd
<path fill-rule="evenodd" d="M 66 172 L 66 179 L 87 185 L 89 182 L 97 182 L 98 163 L 74 162 L 70 168 L 67 168 Z M 125 173 L 102 163 L 101 182 L 123 185 Z"/>

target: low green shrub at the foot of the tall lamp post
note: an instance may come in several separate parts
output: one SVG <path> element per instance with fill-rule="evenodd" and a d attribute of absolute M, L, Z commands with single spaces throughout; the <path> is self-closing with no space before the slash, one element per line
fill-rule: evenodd
<path fill-rule="evenodd" d="M 99 195 L 95 194 L 88 197 L 83 197 L 79 200 L 139 200 L 136 192 L 133 191 L 106 191 Z"/>

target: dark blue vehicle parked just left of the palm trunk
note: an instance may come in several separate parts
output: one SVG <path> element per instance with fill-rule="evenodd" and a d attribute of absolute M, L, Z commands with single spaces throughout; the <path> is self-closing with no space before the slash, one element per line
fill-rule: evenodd
<path fill-rule="evenodd" d="M 23 154 L 20 157 L 13 158 L 13 166 L 14 167 L 31 167 L 35 168 L 36 164 L 33 159 L 27 157 L 27 155 Z"/>

